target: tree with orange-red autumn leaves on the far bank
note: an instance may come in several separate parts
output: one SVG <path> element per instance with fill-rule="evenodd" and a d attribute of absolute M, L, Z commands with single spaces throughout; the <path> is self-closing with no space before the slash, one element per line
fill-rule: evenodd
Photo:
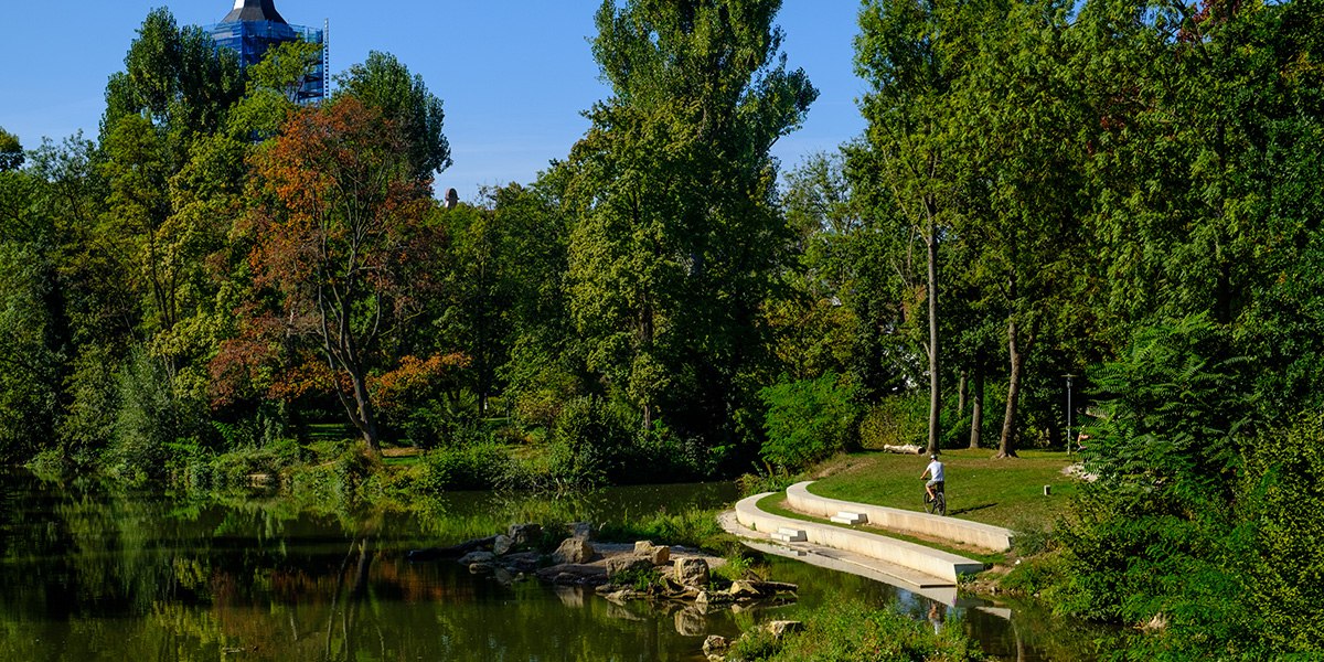
<path fill-rule="evenodd" d="M 286 379 L 314 376 L 314 385 L 334 391 L 373 450 L 372 373 L 391 368 L 384 342 L 414 315 L 438 238 L 422 222 L 430 181 L 414 176 L 400 135 L 347 95 L 291 117 L 252 160 L 249 266 L 270 297 L 248 308 L 248 326 L 270 330 L 277 318 L 286 338 L 312 339 L 322 356 L 302 354 L 303 365 Z"/>

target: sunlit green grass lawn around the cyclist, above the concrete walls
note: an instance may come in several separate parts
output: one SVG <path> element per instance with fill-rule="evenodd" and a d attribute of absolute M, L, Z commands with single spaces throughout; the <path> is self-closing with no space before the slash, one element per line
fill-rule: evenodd
<path fill-rule="evenodd" d="M 1051 528 L 1067 512 L 1076 479 L 1062 473 L 1076 455 L 1062 451 L 1021 451 L 1019 458 L 993 459 L 996 451 L 944 450 L 948 516 L 1012 530 Z M 862 451 L 821 467 L 809 491 L 820 496 L 922 510 L 924 483 L 919 475 L 928 455 Z M 1043 486 L 1053 495 L 1043 495 Z"/>

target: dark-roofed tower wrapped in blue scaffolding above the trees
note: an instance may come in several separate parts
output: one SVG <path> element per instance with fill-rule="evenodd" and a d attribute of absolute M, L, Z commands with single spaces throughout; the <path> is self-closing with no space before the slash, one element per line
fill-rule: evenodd
<path fill-rule="evenodd" d="M 287 41 L 307 41 L 322 46 L 322 57 L 303 81 L 298 91 L 299 103 L 315 103 L 327 95 L 327 28 L 290 25 L 275 11 L 275 0 L 234 0 L 234 8 L 216 25 L 208 25 L 217 48 L 228 48 L 240 56 L 240 68 L 262 61 L 269 49 Z"/>

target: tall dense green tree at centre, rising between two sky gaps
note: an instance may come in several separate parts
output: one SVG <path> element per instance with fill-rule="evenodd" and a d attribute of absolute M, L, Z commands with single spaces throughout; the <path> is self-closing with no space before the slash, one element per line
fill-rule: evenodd
<path fill-rule="evenodd" d="M 760 361 L 780 260 L 773 143 L 817 97 L 790 71 L 780 0 L 605 0 L 593 54 L 612 97 L 575 146 L 571 307 L 591 368 L 645 428 L 728 430 Z"/>

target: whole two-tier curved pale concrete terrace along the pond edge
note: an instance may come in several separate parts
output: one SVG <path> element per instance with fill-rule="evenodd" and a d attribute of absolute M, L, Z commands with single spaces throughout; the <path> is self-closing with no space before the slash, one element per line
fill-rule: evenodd
<path fill-rule="evenodd" d="M 722 518 L 723 527 L 751 547 L 772 553 L 785 551 L 784 556 L 801 557 L 857 575 L 891 577 L 912 592 L 945 604 L 955 600 L 957 577 L 982 571 L 982 563 L 854 527 L 876 526 L 994 552 L 1006 551 L 1012 544 L 1012 532 L 1002 527 L 829 499 L 812 494 L 809 485 L 804 482 L 790 486 L 786 490 L 786 503 L 790 510 L 829 522 L 808 522 L 765 512 L 759 508 L 759 502 L 773 494 L 765 493 L 736 503 L 735 511 Z M 935 594 L 928 594 L 935 591 Z"/>

